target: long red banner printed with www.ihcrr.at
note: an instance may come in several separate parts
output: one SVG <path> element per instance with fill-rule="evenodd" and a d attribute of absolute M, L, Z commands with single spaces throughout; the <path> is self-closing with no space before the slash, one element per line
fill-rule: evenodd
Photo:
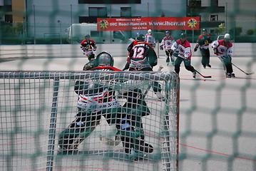
<path fill-rule="evenodd" d="M 199 17 L 98 18 L 98 31 L 199 30 Z"/>

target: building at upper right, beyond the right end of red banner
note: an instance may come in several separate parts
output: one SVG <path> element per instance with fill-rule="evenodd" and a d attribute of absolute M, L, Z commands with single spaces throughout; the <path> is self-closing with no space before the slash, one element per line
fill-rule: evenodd
<path fill-rule="evenodd" d="M 225 31 L 242 28 L 241 35 L 256 28 L 255 0 L 188 0 L 188 15 L 200 16 L 200 27 L 215 33 L 215 28 L 225 24 Z"/>

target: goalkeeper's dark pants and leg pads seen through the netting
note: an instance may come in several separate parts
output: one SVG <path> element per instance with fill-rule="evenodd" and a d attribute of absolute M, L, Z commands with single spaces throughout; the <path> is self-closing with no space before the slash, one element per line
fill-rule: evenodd
<path fill-rule="evenodd" d="M 141 123 L 141 116 L 146 115 L 142 110 L 147 110 L 145 107 L 137 106 L 136 109 L 128 108 L 129 103 L 125 104 L 126 108 L 118 107 L 107 110 L 101 110 L 98 113 L 83 113 L 79 112 L 76 119 L 71 125 L 63 130 L 59 135 L 58 145 L 62 149 L 73 149 L 73 142 L 78 139 L 79 142 L 87 138 L 96 125 L 100 123 L 101 115 L 106 118 L 109 125 L 116 124 L 118 135 L 121 135 L 123 146 L 127 153 L 130 150 L 140 150 L 140 145 L 144 144 L 143 124 Z M 78 145 L 78 144 L 77 144 Z"/>

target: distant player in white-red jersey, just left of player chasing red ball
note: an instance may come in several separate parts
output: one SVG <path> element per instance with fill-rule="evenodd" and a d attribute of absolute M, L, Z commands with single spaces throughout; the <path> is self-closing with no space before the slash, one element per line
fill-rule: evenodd
<path fill-rule="evenodd" d="M 165 35 L 166 36 L 161 41 L 160 50 L 163 51 L 163 48 L 165 48 L 165 61 L 168 66 L 170 63 L 170 60 L 172 61 L 172 63 L 174 62 L 174 57 L 170 55 L 171 53 L 170 48 L 173 46 L 173 43 L 175 42 L 175 40 L 173 36 L 170 36 L 170 31 L 165 31 Z"/>

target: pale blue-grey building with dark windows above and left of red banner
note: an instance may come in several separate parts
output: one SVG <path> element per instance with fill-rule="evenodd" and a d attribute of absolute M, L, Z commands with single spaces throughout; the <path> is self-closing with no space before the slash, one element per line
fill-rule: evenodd
<path fill-rule="evenodd" d="M 26 0 L 28 36 L 65 35 L 71 24 L 96 23 L 97 18 L 186 16 L 186 0 Z M 61 31 L 60 31 L 61 30 Z"/>

